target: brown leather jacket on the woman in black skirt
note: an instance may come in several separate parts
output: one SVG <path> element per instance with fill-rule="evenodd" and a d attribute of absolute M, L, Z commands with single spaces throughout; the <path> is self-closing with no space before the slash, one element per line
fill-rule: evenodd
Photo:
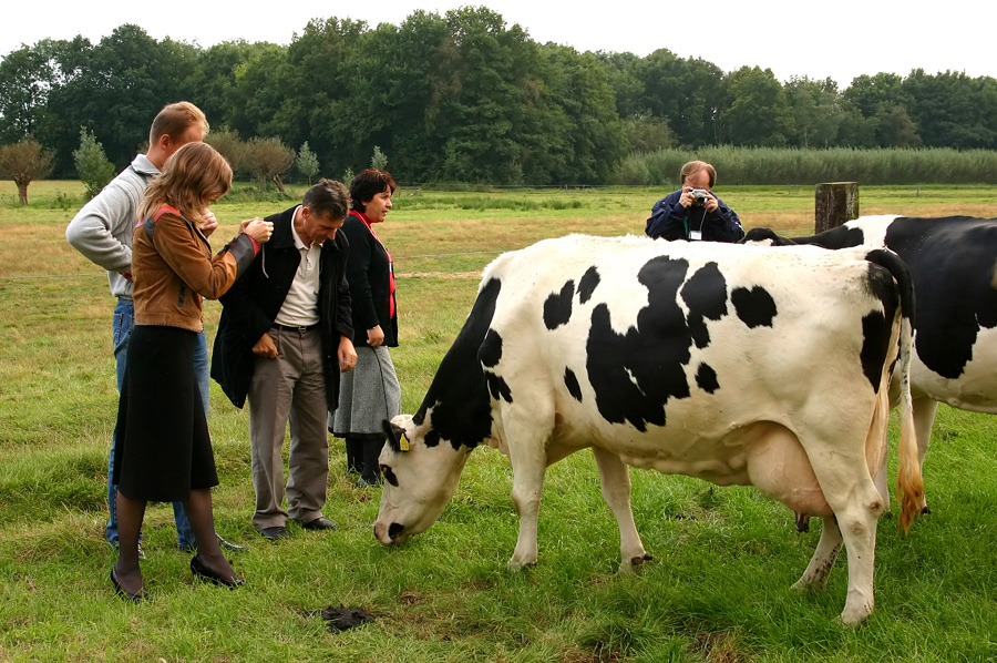
<path fill-rule="evenodd" d="M 203 332 L 202 297 L 224 295 L 258 251 L 249 235 L 239 234 L 212 257 L 197 226 L 163 205 L 132 235 L 135 324 Z"/>

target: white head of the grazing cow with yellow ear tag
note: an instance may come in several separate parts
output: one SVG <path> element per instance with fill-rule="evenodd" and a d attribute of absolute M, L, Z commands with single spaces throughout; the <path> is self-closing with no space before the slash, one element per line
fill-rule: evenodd
<path fill-rule="evenodd" d="M 411 415 L 384 421 L 388 443 L 381 451 L 384 484 L 374 536 L 384 544 L 401 543 L 412 534 L 428 530 L 443 512 L 456 491 L 471 449 L 426 436 L 432 416 L 421 425 Z"/>

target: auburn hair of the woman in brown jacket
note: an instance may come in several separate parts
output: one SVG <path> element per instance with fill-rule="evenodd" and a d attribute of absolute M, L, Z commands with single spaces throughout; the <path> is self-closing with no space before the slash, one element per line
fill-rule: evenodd
<path fill-rule="evenodd" d="M 174 152 L 145 190 L 138 214 L 155 214 L 163 204 L 176 207 L 201 227 L 208 205 L 232 188 L 232 166 L 207 143 L 187 143 Z"/>

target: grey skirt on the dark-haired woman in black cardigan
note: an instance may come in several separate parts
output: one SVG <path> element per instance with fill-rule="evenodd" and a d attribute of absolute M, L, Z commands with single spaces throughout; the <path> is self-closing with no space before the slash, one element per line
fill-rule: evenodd
<path fill-rule="evenodd" d="M 388 348 L 357 347 L 357 366 L 340 376 L 332 435 L 383 435 L 381 422 L 401 414 L 401 385 Z"/>

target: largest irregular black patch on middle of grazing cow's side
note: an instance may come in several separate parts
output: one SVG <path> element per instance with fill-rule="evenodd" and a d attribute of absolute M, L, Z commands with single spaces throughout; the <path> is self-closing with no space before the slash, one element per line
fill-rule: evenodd
<path fill-rule="evenodd" d="M 608 305 L 593 309 L 586 369 L 599 415 L 607 421 L 629 422 L 641 431 L 648 424 L 664 426 L 668 399 L 689 397 L 683 366 L 692 335 L 678 305 L 688 269 L 685 259 L 667 256 L 640 268 L 638 280 L 647 288 L 648 305 L 625 334 L 613 329 Z"/>

